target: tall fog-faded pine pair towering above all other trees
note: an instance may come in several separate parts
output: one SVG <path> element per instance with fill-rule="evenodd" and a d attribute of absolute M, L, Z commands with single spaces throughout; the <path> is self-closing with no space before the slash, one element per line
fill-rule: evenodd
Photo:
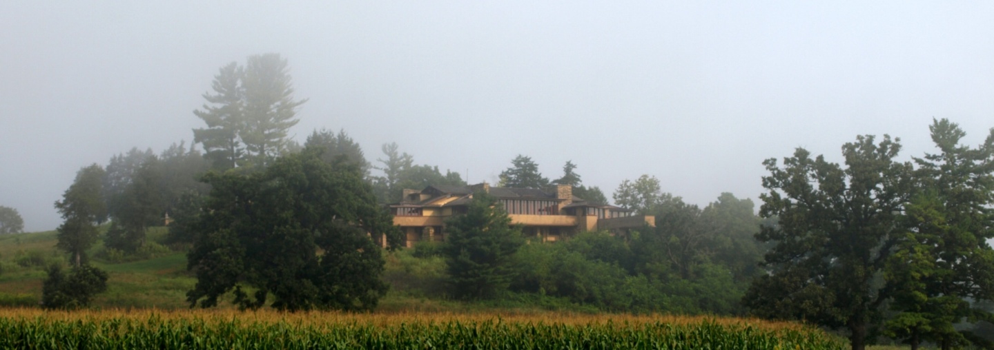
<path fill-rule="evenodd" d="M 194 142 L 204 145 L 216 169 L 264 167 L 286 151 L 296 110 L 307 102 L 293 99 L 292 85 L 279 54 L 250 56 L 245 67 L 225 65 L 212 83 L 215 94 L 204 94 L 210 104 L 194 111 L 207 124 L 194 129 Z"/>

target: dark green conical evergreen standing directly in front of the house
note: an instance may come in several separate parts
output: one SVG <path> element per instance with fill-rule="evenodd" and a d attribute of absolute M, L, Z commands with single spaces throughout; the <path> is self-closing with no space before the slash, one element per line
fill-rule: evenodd
<path fill-rule="evenodd" d="M 489 298 L 507 290 L 524 238 L 495 197 L 473 193 L 466 213 L 449 218 L 445 230 L 441 250 L 455 296 Z"/>

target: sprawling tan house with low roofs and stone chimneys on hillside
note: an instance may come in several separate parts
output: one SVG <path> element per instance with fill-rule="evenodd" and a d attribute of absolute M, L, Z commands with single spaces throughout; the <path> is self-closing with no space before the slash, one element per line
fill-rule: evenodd
<path fill-rule="evenodd" d="M 401 226 L 407 246 L 418 241 L 442 241 L 445 219 L 465 213 L 474 191 L 497 198 L 511 217 L 523 227 L 525 237 L 543 242 L 558 241 L 582 231 L 626 232 L 644 225 L 655 226 L 651 215 L 633 215 L 622 207 L 591 203 L 573 196 L 573 186 L 555 185 L 548 190 L 491 187 L 486 182 L 468 185 L 432 185 L 405 189 L 401 202 L 391 204 L 394 224 Z"/>

